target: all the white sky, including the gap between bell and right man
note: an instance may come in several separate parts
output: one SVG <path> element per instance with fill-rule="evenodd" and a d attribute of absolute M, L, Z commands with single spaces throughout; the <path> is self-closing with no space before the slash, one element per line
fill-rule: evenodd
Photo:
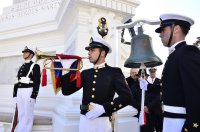
<path fill-rule="evenodd" d="M 193 44 L 197 37 L 200 37 L 200 0 L 137 0 L 140 5 L 136 8 L 136 15 L 132 18 L 133 21 L 141 18 L 150 20 L 159 20 L 162 13 L 178 13 L 189 16 L 194 19 L 195 24 L 191 27 L 189 34 L 186 37 L 188 44 Z M 2 8 L 11 6 L 13 0 L 0 0 L 0 14 Z M 144 33 L 152 38 L 152 47 L 155 54 L 161 58 L 163 63 L 168 56 L 168 49 L 164 47 L 159 38 L 159 34 L 155 33 L 158 25 L 144 24 Z M 136 29 L 137 30 L 137 29 Z M 126 37 L 125 37 L 126 38 Z M 129 36 L 127 36 L 128 39 Z M 158 67 L 158 74 L 161 74 L 163 65 Z"/>

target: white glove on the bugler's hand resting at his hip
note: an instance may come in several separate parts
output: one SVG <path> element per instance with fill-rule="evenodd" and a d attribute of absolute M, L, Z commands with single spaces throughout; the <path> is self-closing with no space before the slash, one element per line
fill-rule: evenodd
<path fill-rule="evenodd" d="M 105 110 L 102 105 L 95 104 L 95 103 L 90 103 L 90 105 L 92 105 L 94 108 L 86 113 L 86 117 L 88 119 L 93 120 L 99 117 L 100 115 L 102 115 L 103 113 L 105 113 Z"/>

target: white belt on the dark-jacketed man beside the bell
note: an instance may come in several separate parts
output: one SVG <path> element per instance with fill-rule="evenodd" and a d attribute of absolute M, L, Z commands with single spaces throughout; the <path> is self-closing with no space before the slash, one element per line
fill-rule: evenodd
<path fill-rule="evenodd" d="M 185 107 L 164 105 L 163 108 L 164 108 L 164 111 L 166 112 L 176 113 L 176 114 L 186 114 Z"/>

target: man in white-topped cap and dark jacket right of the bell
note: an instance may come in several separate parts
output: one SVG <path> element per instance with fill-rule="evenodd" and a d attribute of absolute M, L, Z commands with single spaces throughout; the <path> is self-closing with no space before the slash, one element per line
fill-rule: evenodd
<path fill-rule="evenodd" d="M 163 132 L 200 132 L 200 51 L 185 41 L 194 21 L 178 14 L 160 20 L 155 31 L 169 49 L 161 78 Z"/>

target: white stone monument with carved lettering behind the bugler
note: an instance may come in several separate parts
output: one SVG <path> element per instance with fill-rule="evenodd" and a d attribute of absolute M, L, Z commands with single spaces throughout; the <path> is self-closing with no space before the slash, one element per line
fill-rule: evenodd
<path fill-rule="evenodd" d="M 109 34 L 106 40 L 113 48 L 106 61 L 111 66 L 123 68 L 121 52 L 124 50 L 116 43 L 120 42 L 121 31 L 116 31 L 115 26 L 121 25 L 126 15 L 134 15 L 138 4 L 132 0 L 13 0 L 13 5 L 5 8 L 0 16 L 0 72 L 3 73 L 0 76 L 0 112 L 14 111 L 13 81 L 22 64 L 21 51 L 25 46 L 85 57 L 84 48 L 91 35 L 97 34 L 101 17 L 107 20 Z M 42 61 L 39 64 L 42 68 Z M 83 65 L 83 69 L 92 66 L 88 60 L 83 60 Z M 54 132 L 78 131 L 82 91 L 71 96 L 55 95 L 49 71 L 47 76 L 48 85 L 40 87 L 35 114 L 52 117 Z M 131 108 L 119 112 L 116 130 L 120 132 L 124 126 L 127 132 L 134 127 L 138 130 L 134 114 L 136 111 Z M 135 125 L 131 125 L 133 123 Z M 0 123 L 0 131 L 1 126 L 7 125 Z M 36 131 L 42 129 L 35 128 Z"/>

